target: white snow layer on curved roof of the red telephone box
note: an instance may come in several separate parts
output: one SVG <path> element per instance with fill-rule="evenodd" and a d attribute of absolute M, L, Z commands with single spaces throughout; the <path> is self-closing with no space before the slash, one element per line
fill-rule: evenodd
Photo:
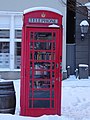
<path fill-rule="evenodd" d="M 24 10 L 24 14 L 26 14 L 28 12 L 32 12 L 32 11 L 37 11 L 37 10 L 47 10 L 47 11 L 55 12 L 55 13 L 58 13 L 58 14 L 62 15 L 62 13 L 59 10 L 54 9 L 54 8 L 50 8 L 50 7 L 33 7 L 33 8 L 29 8 L 29 9 Z"/>

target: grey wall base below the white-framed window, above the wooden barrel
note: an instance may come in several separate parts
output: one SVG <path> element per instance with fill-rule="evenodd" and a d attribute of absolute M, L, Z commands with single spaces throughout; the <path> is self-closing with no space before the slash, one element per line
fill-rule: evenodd
<path fill-rule="evenodd" d="M 20 71 L 0 71 L 0 76 L 6 80 L 20 79 Z"/>

